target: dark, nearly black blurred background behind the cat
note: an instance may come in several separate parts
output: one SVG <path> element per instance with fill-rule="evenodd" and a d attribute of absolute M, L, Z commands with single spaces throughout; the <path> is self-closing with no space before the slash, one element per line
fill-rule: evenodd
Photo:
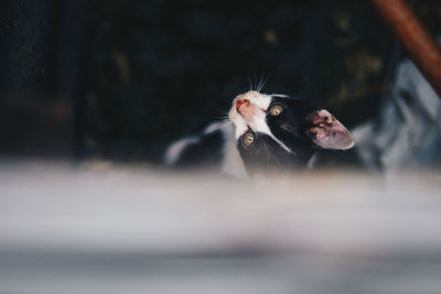
<path fill-rule="evenodd" d="M 441 32 L 441 3 L 411 1 Z M 157 163 L 266 81 L 367 121 L 406 58 L 368 1 L 6 0 L 0 155 Z"/>

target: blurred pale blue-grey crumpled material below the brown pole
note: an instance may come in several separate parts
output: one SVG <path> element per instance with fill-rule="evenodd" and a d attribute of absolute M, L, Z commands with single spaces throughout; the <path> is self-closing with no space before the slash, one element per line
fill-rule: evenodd
<path fill-rule="evenodd" d="M 410 61 L 399 65 L 379 117 L 352 131 L 356 151 L 369 167 L 440 167 L 441 99 Z"/>

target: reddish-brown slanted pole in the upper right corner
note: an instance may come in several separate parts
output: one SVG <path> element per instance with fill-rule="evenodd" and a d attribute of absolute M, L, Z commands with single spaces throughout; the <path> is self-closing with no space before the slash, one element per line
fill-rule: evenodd
<path fill-rule="evenodd" d="M 405 0 L 370 0 L 441 97 L 441 48 Z"/>

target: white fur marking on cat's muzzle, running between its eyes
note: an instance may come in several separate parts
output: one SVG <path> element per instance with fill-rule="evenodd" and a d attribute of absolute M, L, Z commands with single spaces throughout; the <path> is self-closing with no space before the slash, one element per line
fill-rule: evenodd
<path fill-rule="evenodd" d="M 250 102 L 249 107 L 254 108 L 254 116 L 251 118 L 246 118 L 237 112 L 236 104 L 238 100 L 247 99 Z M 268 134 L 272 140 L 275 140 L 281 148 L 286 151 L 291 152 L 291 150 L 279 139 L 277 139 L 271 130 L 269 129 L 266 118 L 267 110 L 272 100 L 271 95 L 260 94 L 257 91 L 247 91 L 245 94 L 238 95 L 233 100 L 232 109 L 229 110 L 229 120 L 235 124 L 235 138 L 238 140 L 240 135 L 243 135 L 248 128 L 250 128 L 254 132 L 260 132 Z"/>

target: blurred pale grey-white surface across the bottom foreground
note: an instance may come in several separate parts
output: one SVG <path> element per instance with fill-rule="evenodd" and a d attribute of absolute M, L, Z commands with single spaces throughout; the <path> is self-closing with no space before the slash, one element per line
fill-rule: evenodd
<path fill-rule="evenodd" d="M 0 164 L 0 293 L 440 293 L 441 174 Z"/>

